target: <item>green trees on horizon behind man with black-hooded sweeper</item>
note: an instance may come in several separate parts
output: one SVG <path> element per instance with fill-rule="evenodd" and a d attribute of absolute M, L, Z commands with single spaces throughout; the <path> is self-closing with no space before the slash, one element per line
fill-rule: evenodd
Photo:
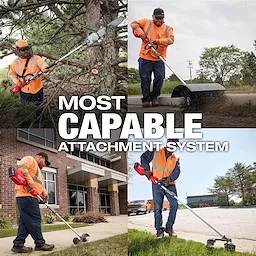
<path fill-rule="evenodd" d="M 256 40 L 254 40 L 256 50 Z M 256 56 L 234 45 L 205 48 L 199 60 L 200 69 L 192 83 L 216 82 L 226 86 L 256 85 Z M 177 81 L 172 74 L 167 78 Z M 129 69 L 129 83 L 139 83 L 138 70 Z"/>

